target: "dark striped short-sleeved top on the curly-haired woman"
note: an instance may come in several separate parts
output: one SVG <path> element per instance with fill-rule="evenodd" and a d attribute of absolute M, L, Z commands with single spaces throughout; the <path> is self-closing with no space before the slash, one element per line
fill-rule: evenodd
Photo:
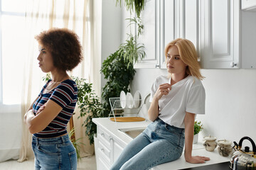
<path fill-rule="evenodd" d="M 78 87 L 75 81 L 66 79 L 62 81 L 55 89 L 43 94 L 44 89 L 49 84 L 43 86 L 42 91 L 38 95 L 38 99 L 33 103 L 33 113 L 36 114 L 38 109 L 43 106 L 48 100 L 55 101 L 63 108 L 60 113 L 53 119 L 53 121 L 41 132 L 33 134 L 36 137 L 57 137 L 67 132 L 67 124 L 75 110 L 75 104 L 78 98 Z"/>

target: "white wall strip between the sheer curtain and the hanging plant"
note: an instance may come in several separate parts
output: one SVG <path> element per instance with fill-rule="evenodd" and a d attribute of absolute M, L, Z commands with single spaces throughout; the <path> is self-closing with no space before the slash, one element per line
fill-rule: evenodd
<path fill-rule="evenodd" d="M 116 6 L 115 0 L 97 0 L 94 2 L 95 8 L 101 9 L 98 11 L 96 33 L 97 42 L 96 50 L 97 55 L 100 55 L 102 62 L 107 59 L 112 53 L 118 50 L 122 39 L 122 8 Z M 100 35 L 100 36 L 99 36 Z M 101 38 L 99 40 L 99 38 Z M 98 68 L 99 72 L 101 65 Z M 101 87 L 105 86 L 106 80 L 101 74 Z M 101 88 L 102 90 L 102 88 Z M 101 94 L 101 92 L 100 92 Z M 99 95 L 100 96 L 100 95 Z"/>

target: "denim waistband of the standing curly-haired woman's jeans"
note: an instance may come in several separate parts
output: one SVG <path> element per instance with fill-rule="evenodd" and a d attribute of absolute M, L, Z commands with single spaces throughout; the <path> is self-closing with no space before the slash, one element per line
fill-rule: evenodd
<path fill-rule="evenodd" d="M 69 137 L 68 134 L 67 135 L 63 135 L 60 137 L 51 137 L 51 138 L 39 138 L 39 137 L 35 137 L 32 136 L 32 142 L 36 142 L 36 143 L 55 143 L 55 144 L 60 144 L 63 142 L 67 142 L 69 141 Z"/>

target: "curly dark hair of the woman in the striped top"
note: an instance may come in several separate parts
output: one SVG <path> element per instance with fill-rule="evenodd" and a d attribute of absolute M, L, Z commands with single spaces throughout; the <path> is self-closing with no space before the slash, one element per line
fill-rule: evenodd
<path fill-rule="evenodd" d="M 67 28 L 51 28 L 36 35 L 38 43 L 53 56 L 53 65 L 71 71 L 82 61 L 82 46 L 78 35 Z"/>

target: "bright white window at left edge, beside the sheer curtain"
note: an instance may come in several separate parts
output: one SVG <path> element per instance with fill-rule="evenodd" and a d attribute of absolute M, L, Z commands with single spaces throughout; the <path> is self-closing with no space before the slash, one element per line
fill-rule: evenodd
<path fill-rule="evenodd" d="M 3 107 L 21 101 L 20 63 L 26 50 L 23 43 L 26 6 L 20 0 L 0 0 L 0 7 L 0 106 Z"/>

